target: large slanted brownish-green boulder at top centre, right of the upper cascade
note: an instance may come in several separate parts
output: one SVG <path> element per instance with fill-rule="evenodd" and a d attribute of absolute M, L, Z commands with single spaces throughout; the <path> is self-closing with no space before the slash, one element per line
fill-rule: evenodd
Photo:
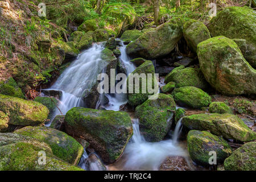
<path fill-rule="evenodd" d="M 163 23 L 152 31 L 148 31 L 126 47 L 131 56 L 146 59 L 168 55 L 182 36 L 182 30 L 176 23 Z"/>

